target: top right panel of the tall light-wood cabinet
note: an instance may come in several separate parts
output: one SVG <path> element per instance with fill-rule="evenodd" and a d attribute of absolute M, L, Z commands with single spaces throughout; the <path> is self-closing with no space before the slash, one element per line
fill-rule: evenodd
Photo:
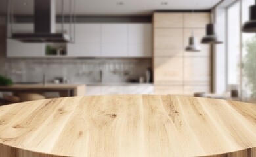
<path fill-rule="evenodd" d="M 184 27 L 205 28 L 210 22 L 210 14 L 204 12 L 184 13 Z"/>

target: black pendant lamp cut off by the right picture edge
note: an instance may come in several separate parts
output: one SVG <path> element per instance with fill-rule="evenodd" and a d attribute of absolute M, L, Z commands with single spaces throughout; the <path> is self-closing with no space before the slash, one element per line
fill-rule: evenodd
<path fill-rule="evenodd" d="M 244 23 L 242 31 L 245 33 L 256 32 L 256 5 L 251 5 L 249 8 L 249 21 Z"/>

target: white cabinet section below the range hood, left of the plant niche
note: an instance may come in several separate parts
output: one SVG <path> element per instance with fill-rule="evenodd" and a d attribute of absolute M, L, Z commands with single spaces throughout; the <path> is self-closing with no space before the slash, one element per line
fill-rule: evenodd
<path fill-rule="evenodd" d="M 43 43 L 22 43 L 7 39 L 7 57 L 43 57 L 44 50 Z"/>

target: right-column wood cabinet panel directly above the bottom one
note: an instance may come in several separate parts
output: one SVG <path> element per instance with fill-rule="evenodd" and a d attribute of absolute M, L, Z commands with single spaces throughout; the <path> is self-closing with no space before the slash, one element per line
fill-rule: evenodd
<path fill-rule="evenodd" d="M 184 81 L 209 83 L 211 80 L 210 64 L 209 57 L 184 58 Z"/>

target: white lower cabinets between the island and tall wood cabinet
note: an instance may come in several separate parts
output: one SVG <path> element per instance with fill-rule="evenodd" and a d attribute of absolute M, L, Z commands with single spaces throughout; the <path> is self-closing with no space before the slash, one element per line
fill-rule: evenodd
<path fill-rule="evenodd" d="M 86 88 L 86 95 L 108 95 L 108 94 L 154 94 L 153 85 L 102 85 L 102 86 L 90 86 Z"/>

